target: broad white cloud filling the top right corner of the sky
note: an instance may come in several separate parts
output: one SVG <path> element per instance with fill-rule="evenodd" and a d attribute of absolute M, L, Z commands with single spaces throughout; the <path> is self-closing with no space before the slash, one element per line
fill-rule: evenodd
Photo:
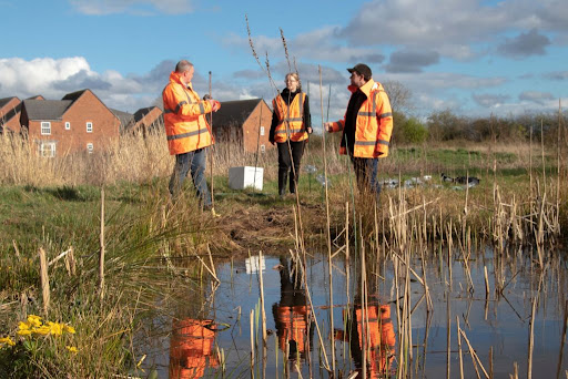
<path fill-rule="evenodd" d="M 374 0 L 365 3 L 337 32 L 357 47 L 392 44 L 430 49 L 444 57 L 469 60 L 510 31 L 568 31 L 568 7 L 561 0 Z M 561 37 L 558 37 L 562 40 Z M 486 52 L 486 51 L 485 51 Z"/>

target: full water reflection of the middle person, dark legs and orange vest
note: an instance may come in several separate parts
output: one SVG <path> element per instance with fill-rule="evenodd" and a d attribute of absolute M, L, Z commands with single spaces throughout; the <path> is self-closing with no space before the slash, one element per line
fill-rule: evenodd
<path fill-rule="evenodd" d="M 284 354 L 288 348 L 288 360 L 304 360 L 312 349 L 314 329 L 312 310 L 307 305 L 305 289 L 302 288 L 301 275 L 292 263 L 292 276 L 286 258 L 280 258 L 281 299 L 272 306 L 278 347 Z"/>

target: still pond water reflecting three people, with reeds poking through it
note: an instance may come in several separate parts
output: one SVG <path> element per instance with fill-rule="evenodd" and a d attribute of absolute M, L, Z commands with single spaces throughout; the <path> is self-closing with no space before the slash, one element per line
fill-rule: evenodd
<path fill-rule="evenodd" d="M 143 367 L 146 372 L 155 370 L 160 378 L 250 378 L 252 339 L 255 378 L 327 378 L 323 367 L 332 367 L 333 339 L 337 377 L 346 378 L 358 370 L 361 378 L 364 365 L 369 378 L 395 377 L 397 367 L 407 365 L 412 377 L 446 378 L 449 319 L 449 376 L 459 378 L 456 322 L 459 319 L 488 373 L 493 369 L 495 378 L 508 378 L 517 362 L 519 377 L 526 377 L 532 299 L 540 287 L 535 301 L 532 378 L 556 378 L 558 369 L 560 377 L 566 377 L 568 359 L 562 357 L 566 354 L 561 341 L 568 287 L 566 262 L 559 254 L 555 254 L 541 275 L 537 264 L 530 264 L 527 252 L 497 256 L 485 249 L 468 260 L 471 279 L 463 259 L 453 258 L 450 270 L 447 252 L 439 250 L 432 256 L 424 265 L 419 259 L 413 262 L 417 275 L 422 276 L 423 268 L 426 269 L 432 308 L 428 311 L 423 284 L 412 277 L 412 360 L 408 360 L 409 351 L 399 354 L 396 299 L 402 294 L 396 291 L 393 262 L 367 263 L 368 295 L 362 306 L 358 260 L 352 257 L 346 267 L 343 254 L 334 257 L 332 308 L 327 257 L 314 253 L 306 256 L 305 281 L 290 254 L 263 256 L 261 262 L 251 257 L 219 265 L 219 285 L 204 280 L 203 290 L 197 296 L 195 291 L 187 295 L 173 315 L 152 320 L 151 338 L 141 339 L 142 346 L 138 347 L 148 356 Z M 487 296 L 485 269 L 489 284 Z M 265 351 L 258 317 L 260 273 L 268 335 Z M 404 283 L 404 277 L 398 279 L 399 284 Z M 501 290 L 496 291 L 496 283 Z M 255 310 L 252 324 L 251 310 Z M 464 377 L 477 378 L 464 338 L 462 350 Z M 366 358 L 362 351 L 367 351 Z M 407 363 L 400 362 L 402 359 Z M 479 365 L 477 369 L 485 377 Z"/>

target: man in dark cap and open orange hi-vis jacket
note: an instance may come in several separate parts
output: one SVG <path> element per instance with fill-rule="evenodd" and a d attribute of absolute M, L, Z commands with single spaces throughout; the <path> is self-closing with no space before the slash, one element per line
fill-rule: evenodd
<path fill-rule="evenodd" d="M 359 192 L 371 192 L 378 204 L 381 184 L 378 158 L 388 155 L 393 132 L 393 111 L 383 85 L 373 80 L 368 65 L 357 63 L 351 73 L 352 95 L 343 120 L 326 122 L 329 133 L 343 131 L 341 154 L 348 154 L 357 176 Z"/>

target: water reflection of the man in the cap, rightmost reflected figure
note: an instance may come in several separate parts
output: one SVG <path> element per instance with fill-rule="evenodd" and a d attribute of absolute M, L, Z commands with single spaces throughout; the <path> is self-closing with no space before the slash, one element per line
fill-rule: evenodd
<path fill-rule="evenodd" d="M 336 329 L 335 339 L 349 342 L 351 355 L 358 372 L 363 371 L 363 348 L 366 346 L 368 351 L 367 377 L 384 378 L 393 375 L 392 365 L 396 344 L 390 320 L 390 305 L 381 305 L 376 297 L 369 297 L 365 309 L 366 314 L 364 315 L 361 299 L 356 299 L 351 311 L 344 310 L 347 332 Z M 366 344 L 364 345 L 363 338 L 365 337 Z"/>

